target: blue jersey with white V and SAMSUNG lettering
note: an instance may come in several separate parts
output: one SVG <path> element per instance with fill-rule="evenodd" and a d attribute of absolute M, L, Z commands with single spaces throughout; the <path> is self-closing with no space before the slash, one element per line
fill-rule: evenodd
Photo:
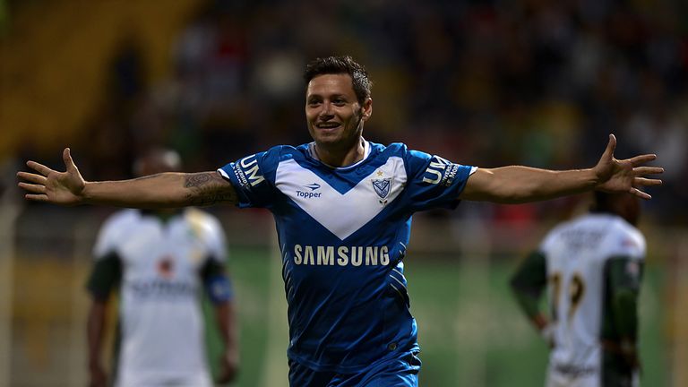
<path fill-rule="evenodd" d="M 403 258 L 416 211 L 455 208 L 476 168 L 365 142 L 365 158 L 333 168 L 314 143 L 271 150 L 219 172 L 238 206 L 272 212 L 288 301 L 288 357 L 354 373 L 418 349 Z"/>

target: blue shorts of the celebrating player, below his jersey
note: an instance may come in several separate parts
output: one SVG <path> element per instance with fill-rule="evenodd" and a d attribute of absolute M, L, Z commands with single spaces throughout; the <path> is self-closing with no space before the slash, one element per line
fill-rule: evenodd
<path fill-rule="evenodd" d="M 417 351 L 403 352 L 356 374 L 317 372 L 289 359 L 292 387 L 417 387 L 420 359 Z"/>

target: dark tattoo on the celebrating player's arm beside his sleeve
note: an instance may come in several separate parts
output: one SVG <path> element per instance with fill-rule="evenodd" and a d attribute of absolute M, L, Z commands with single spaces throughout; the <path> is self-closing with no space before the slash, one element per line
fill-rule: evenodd
<path fill-rule="evenodd" d="M 201 172 L 184 177 L 188 188 L 186 202 L 193 206 L 209 206 L 220 202 L 236 203 L 236 192 L 217 172 Z"/>

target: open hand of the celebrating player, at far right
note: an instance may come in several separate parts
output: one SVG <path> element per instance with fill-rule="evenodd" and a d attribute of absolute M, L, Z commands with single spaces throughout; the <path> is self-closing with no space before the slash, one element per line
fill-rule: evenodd
<path fill-rule="evenodd" d="M 598 185 L 595 189 L 607 193 L 632 193 L 641 199 L 651 199 L 648 193 L 641 188 L 651 185 L 661 185 L 660 179 L 646 178 L 646 175 L 655 175 L 664 172 L 664 168 L 648 167 L 649 161 L 657 159 L 657 155 L 644 154 L 631 159 L 615 159 L 616 137 L 609 134 L 609 143 L 606 150 L 593 168 L 598 177 Z"/>

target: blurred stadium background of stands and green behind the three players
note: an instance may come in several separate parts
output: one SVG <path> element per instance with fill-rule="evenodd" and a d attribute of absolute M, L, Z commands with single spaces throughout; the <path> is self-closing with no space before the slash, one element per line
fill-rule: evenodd
<path fill-rule="evenodd" d="M 14 177 L 24 160 L 63 168 L 70 146 L 87 179 L 116 179 L 151 145 L 199 171 L 306 142 L 301 71 L 331 54 L 371 73 L 374 142 L 483 167 L 592 166 L 608 133 L 618 157 L 658 153 L 665 185 L 650 191 L 640 226 L 642 380 L 687 386 L 687 36 L 678 0 L 0 0 L 0 386 L 85 385 L 83 283 L 95 233 L 115 211 L 24 202 Z M 407 271 L 421 385 L 542 384 L 546 348 L 507 279 L 587 202 L 466 202 L 415 218 Z M 271 216 L 211 211 L 232 249 L 234 385 L 284 386 Z"/>

